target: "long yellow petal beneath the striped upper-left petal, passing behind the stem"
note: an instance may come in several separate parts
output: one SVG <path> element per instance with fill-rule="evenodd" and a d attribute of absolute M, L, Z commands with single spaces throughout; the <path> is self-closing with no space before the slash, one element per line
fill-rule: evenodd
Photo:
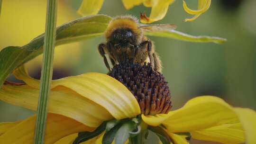
<path fill-rule="evenodd" d="M 95 102 L 82 97 L 73 90 L 60 89 L 51 91 L 48 111 L 71 117 L 87 126 L 96 127 L 103 121 L 112 119 L 110 113 Z M 38 89 L 27 85 L 3 85 L 0 89 L 0 100 L 16 106 L 37 110 Z"/>

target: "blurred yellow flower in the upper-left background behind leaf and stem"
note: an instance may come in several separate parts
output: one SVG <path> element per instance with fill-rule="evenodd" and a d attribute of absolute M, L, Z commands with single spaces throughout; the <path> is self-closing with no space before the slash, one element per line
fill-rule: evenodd
<path fill-rule="evenodd" d="M 0 50 L 9 45 L 26 45 L 45 32 L 46 2 L 44 0 L 3 0 L 0 17 Z M 57 25 L 69 22 L 77 16 L 63 1 L 58 5 Z M 54 67 L 70 68 L 79 60 L 81 43 L 57 46 Z M 71 50 L 72 49 L 72 50 Z M 34 72 L 41 68 L 42 55 L 27 66 Z"/>

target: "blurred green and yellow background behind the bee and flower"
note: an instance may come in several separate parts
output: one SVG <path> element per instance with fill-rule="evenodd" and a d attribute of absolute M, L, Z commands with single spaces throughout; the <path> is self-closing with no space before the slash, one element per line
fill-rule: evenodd
<path fill-rule="evenodd" d="M 197 0 L 186 0 L 196 9 Z M 57 24 L 80 16 L 76 14 L 82 0 L 59 0 Z M 131 14 L 150 9 L 143 5 L 126 10 L 121 0 L 105 0 L 100 14 Z M 170 38 L 150 37 L 164 65 L 174 109 L 201 95 L 225 99 L 234 107 L 256 110 L 256 0 L 212 0 L 210 9 L 193 22 L 183 10 L 182 0 L 169 7 L 163 20 L 177 30 L 191 35 L 220 36 L 225 44 L 191 43 Z M 8 45 L 25 45 L 44 32 L 46 0 L 3 0 L 0 17 L 0 49 Z M 106 73 L 97 45 L 104 37 L 58 46 L 55 51 L 54 79 L 84 72 Z M 29 62 L 29 72 L 40 78 L 42 57 Z M 12 79 L 12 77 L 10 77 Z M 0 101 L 0 122 L 17 121 L 34 112 Z"/>

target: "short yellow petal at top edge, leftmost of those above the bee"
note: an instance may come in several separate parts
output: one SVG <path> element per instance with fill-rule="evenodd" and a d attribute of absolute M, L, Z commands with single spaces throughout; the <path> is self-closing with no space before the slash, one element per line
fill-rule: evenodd
<path fill-rule="evenodd" d="M 96 15 L 103 4 L 104 0 L 83 0 L 77 13 L 81 16 Z"/>

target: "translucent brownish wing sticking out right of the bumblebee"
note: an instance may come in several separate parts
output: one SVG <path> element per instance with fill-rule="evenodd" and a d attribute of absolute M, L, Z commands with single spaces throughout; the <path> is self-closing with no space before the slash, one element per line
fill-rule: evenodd
<path fill-rule="evenodd" d="M 173 24 L 153 24 L 153 25 L 140 24 L 139 28 L 146 31 L 169 31 L 169 30 L 175 29 L 176 26 Z"/>

